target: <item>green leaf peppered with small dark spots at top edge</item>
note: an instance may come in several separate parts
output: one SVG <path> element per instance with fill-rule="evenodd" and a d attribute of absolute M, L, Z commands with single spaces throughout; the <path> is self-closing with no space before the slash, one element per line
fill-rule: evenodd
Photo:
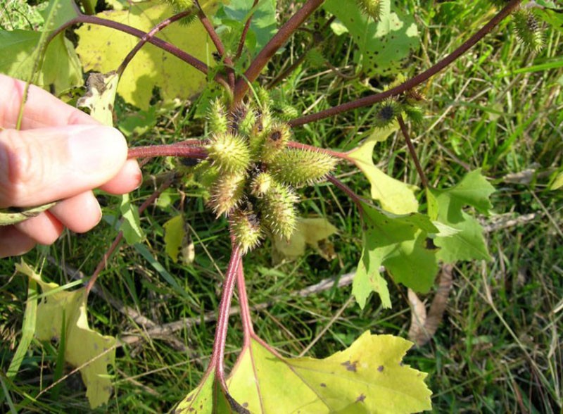
<path fill-rule="evenodd" d="M 327 0 L 324 8 L 348 28 L 360 49 L 365 73 L 389 76 L 402 70 L 403 60 L 419 47 L 419 37 L 411 15 L 391 11 L 391 0 L 381 3 L 379 22 L 362 13 L 355 0 Z"/>

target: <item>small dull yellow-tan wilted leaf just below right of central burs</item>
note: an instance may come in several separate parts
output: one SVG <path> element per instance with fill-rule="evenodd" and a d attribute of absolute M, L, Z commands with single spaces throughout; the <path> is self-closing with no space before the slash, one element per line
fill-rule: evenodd
<path fill-rule="evenodd" d="M 289 242 L 283 237 L 274 237 L 274 255 L 292 260 L 303 256 L 305 246 L 309 245 L 321 256 L 330 260 L 327 256 L 327 243 L 324 241 L 337 231 L 338 229 L 326 218 L 300 218 Z"/>

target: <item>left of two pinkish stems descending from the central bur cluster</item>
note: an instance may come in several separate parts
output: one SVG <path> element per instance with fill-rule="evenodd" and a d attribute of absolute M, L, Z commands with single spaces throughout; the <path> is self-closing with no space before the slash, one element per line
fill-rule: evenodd
<path fill-rule="evenodd" d="M 221 294 L 221 303 L 219 304 L 219 313 L 217 316 L 217 327 L 215 327 L 215 341 L 213 341 L 213 353 L 208 370 L 215 370 L 215 377 L 220 381 L 222 387 L 226 390 L 227 384 L 224 380 L 224 346 L 227 341 L 227 330 L 229 327 L 229 309 L 231 308 L 231 299 L 234 292 L 234 284 L 239 274 L 239 268 L 242 265 L 241 249 L 237 244 L 233 244 L 231 252 L 231 260 L 229 267 L 225 272 L 223 290 Z"/>

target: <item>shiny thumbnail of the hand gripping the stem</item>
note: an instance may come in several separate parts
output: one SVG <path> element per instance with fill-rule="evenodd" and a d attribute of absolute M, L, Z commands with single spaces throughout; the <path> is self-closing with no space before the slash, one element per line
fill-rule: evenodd
<path fill-rule="evenodd" d="M 115 128 L 100 125 L 69 127 L 70 162 L 82 172 L 112 177 L 127 158 L 127 142 Z"/>

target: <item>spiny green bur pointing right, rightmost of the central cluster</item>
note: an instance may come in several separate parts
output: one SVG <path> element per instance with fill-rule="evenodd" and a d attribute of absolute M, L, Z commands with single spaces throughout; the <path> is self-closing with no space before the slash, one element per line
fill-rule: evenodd
<path fill-rule="evenodd" d="M 287 148 L 270 164 L 272 176 L 293 187 L 313 184 L 326 177 L 336 158 L 320 151 Z"/>

